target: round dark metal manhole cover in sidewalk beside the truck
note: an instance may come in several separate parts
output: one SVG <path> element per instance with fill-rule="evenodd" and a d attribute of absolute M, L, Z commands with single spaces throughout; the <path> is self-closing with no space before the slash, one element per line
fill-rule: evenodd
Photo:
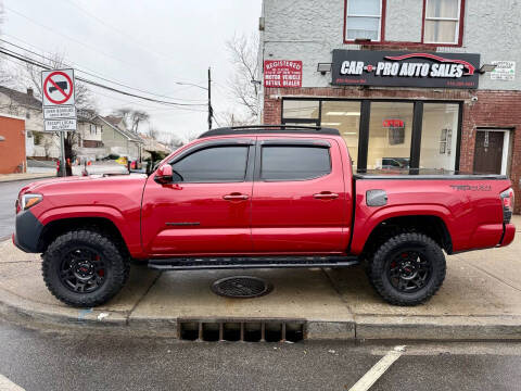
<path fill-rule="evenodd" d="M 258 298 L 271 292 L 271 283 L 257 277 L 233 276 L 212 283 L 212 291 L 226 298 Z"/>

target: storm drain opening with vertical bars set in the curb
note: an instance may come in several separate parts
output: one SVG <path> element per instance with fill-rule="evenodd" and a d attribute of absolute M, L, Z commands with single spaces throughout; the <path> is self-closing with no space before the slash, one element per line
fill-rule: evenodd
<path fill-rule="evenodd" d="M 178 337 L 187 341 L 298 342 L 305 323 L 300 320 L 179 320 Z"/>

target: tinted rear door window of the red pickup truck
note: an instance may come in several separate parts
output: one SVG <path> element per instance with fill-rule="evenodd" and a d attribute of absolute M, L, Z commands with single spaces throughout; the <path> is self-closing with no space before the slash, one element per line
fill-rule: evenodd
<path fill-rule="evenodd" d="M 263 147 L 260 178 L 267 180 L 312 179 L 331 172 L 329 148 Z"/>

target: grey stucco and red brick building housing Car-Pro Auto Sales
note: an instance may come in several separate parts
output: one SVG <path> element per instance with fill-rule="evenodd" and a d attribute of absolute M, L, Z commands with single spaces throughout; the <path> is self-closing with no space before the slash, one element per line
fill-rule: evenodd
<path fill-rule="evenodd" d="M 338 128 L 357 169 L 508 175 L 521 212 L 521 3 L 264 0 L 267 124 Z"/>

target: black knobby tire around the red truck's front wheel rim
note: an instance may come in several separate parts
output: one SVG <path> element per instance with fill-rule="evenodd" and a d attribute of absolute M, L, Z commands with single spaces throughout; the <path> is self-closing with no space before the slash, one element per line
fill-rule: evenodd
<path fill-rule="evenodd" d="M 64 254 L 75 247 L 92 249 L 104 260 L 104 282 L 92 292 L 74 292 L 60 279 Z M 130 265 L 117 242 L 105 234 L 90 229 L 75 229 L 59 236 L 42 255 L 42 275 L 49 291 L 60 301 L 75 307 L 91 307 L 106 303 L 123 288 Z"/>

